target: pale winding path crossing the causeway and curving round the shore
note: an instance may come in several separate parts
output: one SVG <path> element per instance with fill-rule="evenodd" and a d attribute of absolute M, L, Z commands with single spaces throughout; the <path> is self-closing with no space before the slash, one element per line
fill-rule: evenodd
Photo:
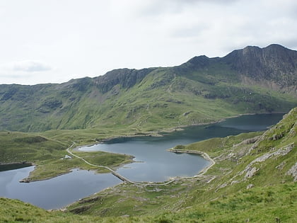
<path fill-rule="evenodd" d="M 199 154 L 201 156 L 204 157 L 204 159 L 208 160 L 211 162 L 211 165 L 207 166 L 206 168 L 203 168 L 202 171 L 199 172 L 198 175 L 196 176 L 190 176 L 190 177 L 175 177 L 173 180 L 168 181 L 166 183 L 150 183 L 150 182 L 135 182 L 135 181 L 130 181 L 128 178 L 125 178 L 124 176 L 120 175 L 119 173 L 115 172 L 114 170 L 112 170 L 112 168 L 108 167 L 108 166 L 100 166 L 100 165 L 95 165 L 95 164 L 91 164 L 90 162 L 86 161 L 86 159 L 83 159 L 81 156 L 77 156 L 76 154 L 72 153 L 70 151 L 71 147 L 74 146 L 74 144 L 76 144 L 75 142 L 73 142 L 71 144 L 71 146 L 69 148 L 66 149 L 66 151 L 71 154 L 71 156 L 74 156 L 78 159 L 81 159 L 82 161 L 84 161 L 86 164 L 90 165 L 90 166 L 95 166 L 98 168 L 105 168 L 108 171 L 110 171 L 112 173 L 112 175 L 116 176 L 117 178 L 119 178 L 121 181 L 127 182 L 127 183 L 132 183 L 134 185 L 154 185 L 154 186 L 161 186 L 161 185 L 168 185 L 169 183 L 173 183 L 174 181 L 176 181 L 177 179 L 189 179 L 189 178 L 197 178 L 199 176 L 202 176 L 204 173 L 206 173 L 206 171 L 209 170 L 209 168 L 211 168 L 211 166 L 214 166 L 214 164 L 216 164 L 216 162 L 211 159 L 209 157 L 208 154 L 206 154 L 203 151 L 195 151 L 195 150 L 182 150 L 182 149 L 168 149 L 168 151 L 171 152 L 175 152 L 175 153 L 189 153 L 189 154 Z"/>

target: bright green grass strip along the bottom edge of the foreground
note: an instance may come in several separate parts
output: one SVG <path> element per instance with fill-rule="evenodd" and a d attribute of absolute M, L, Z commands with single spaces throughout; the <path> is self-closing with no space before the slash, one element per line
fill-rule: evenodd
<path fill-rule="evenodd" d="M 183 210 L 160 210 L 139 217 L 47 212 L 18 200 L 0 198 L 0 222 L 276 222 L 276 219 L 281 222 L 296 222 L 296 191 L 296 183 L 245 189 Z M 126 208 L 128 210 L 133 207 L 126 205 Z"/>

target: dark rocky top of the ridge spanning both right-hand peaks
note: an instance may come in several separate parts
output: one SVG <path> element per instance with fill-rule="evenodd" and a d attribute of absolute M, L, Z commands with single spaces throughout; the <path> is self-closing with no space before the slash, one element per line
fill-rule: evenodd
<path fill-rule="evenodd" d="M 234 72 L 243 84 L 257 83 L 297 95 L 297 51 L 281 45 L 264 48 L 248 46 L 225 57 L 194 57 L 177 69 L 182 68 L 185 72 L 189 69 L 208 70 L 219 64 L 228 67 L 229 72 Z"/>

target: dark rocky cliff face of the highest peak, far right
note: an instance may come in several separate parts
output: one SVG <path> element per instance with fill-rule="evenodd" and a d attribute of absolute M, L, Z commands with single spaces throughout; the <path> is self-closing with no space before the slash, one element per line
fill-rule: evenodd
<path fill-rule="evenodd" d="M 256 81 L 272 81 L 281 88 L 297 85 L 297 52 L 281 45 L 245 47 L 226 55 L 222 61 Z"/>

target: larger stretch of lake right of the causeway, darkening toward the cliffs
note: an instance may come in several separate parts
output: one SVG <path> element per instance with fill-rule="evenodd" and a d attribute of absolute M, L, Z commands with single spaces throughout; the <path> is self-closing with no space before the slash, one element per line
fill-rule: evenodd
<path fill-rule="evenodd" d="M 82 147 L 81 151 L 110 151 L 135 156 L 133 164 L 117 170 L 132 181 L 166 181 L 174 176 L 194 176 L 209 165 L 202 156 L 195 154 L 174 154 L 166 149 L 177 144 L 212 137 L 238 135 L 242 132 L 266 130 L 278 122 L 284 114 L 243 115 L 213 125 L 186 127 L 184 131 L 171 132 L 165 137 L 127 137 L 113 139 L 105 144 Z"/>

